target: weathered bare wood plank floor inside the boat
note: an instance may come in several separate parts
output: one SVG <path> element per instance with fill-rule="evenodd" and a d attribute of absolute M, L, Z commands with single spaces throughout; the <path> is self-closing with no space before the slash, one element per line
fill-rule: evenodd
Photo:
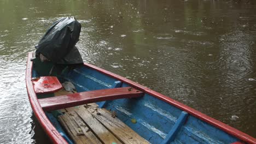
<path fill-rule="evenodd" d="M 67 93 L 62 89 L 55 96 Z M 63 115 L 58 120 L 74 143 L 149 143 L 120 121 L 114 111 L 100 109 L 96 103 L 60 111 Z"/>

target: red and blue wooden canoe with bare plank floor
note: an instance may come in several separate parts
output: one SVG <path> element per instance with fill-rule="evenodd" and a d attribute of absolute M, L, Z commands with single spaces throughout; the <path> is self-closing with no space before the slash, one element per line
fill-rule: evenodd
<path fill-rule="evenodd" d="M 84 63 L 74 69 L 63 68 L 61 73 L 56 72 L 48 76 L 51 63 L 32 62 L 32 57 L 33 53 L 28 53 L 26 69 L 28 98 L 34 115 L 53 143 L 111 143 L 111 141 L 104 141 L 111 136 L 114 137 L 111 138 L 112 143 L 129 143 L 129 139 L 135 139 L 135 137 L 135 141 L 141 141 L 139 143 L 256 143 L 256 139 L 252 136 L 150 88 L 94 65 Z M 40 79 L 42 81 L 39 83 Z M 58 80 L 72 82 L 77 93 L 52 97 L 53 93 L 61 89 Z M 90 103 L 96 103 L 97 108 L 89 108 L 84 112 L 80 110 L 81 105 L 86 107 L 86 104 L 90 105 Z M 102 110 L 99 110 L 101 111 L 99 115 L 98 112 L 97 115 L 93 113 L 93 110 L 100 108 Z M 65 116 L 64 112 L 59 114 L 61 115 L 58 116 L 59 119 L 54 115 L 49 115 L 49 113 L 63 110 L 66 115 L 68 113 L 69 116 L 77 118 L 72 120 Z M 68 112 L 68 110 L 70 111 Z M 92 113 L 88 114 L 90 111 Z M 108 112 L 114 113 L 114 116 L 112 113 L 112 120 L 106 122 L 106 119 L 111 119 L 111 116 L 106 116 L 103 121 L 100 121 L 102 113 Z M 98 121 L 90 120 L 94 118 Z M 67 121 L 70 121 L 71 124 L 74 121 L 73 125 L 84 122 L 92 133 L 89 134 L 86 130 L 86 134 L 80 134 L 84 129 L 80 127 L 82 130 L 78 129 L 77 134 L 72 138 L 73 128 L 69 128 L 71 130 L 69 134 L 67 134 L 67 130 L 60 130 L 63 127 L 68 127 L 68 124 L 65 126 Z M 111 127 L 103 125 L 104 127 L 100 131 L 107 129 L 110 131 L 109 135 L 97 135 L 99 129 L 92 127 L 104 122 L 110 124 Z M 119 127 L 111 125 L 119 122 L 121 123 Z M 112 126 L 115 129 L 112 129 Z M 136 134 L 129 139 L 124 138 L 126 135 L 131 135 L 130 133 Z M 92 135 L 92 141 L 85 138 L 88 136 L 87 134 L 89 137 Z M 79 135 L 85 137 L 77 140 Z M 106 138 L 106 136 L 108 137 Z"/>

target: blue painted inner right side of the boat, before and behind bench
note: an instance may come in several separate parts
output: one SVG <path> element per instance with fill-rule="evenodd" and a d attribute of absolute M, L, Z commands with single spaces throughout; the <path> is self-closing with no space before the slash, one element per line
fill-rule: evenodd
<path fill-rule="evenodd" d="M 117 81 L 96 70 L 81 67 L 65 71 L 60 81 L 71 81 L 77 92 L 117 86 Z M 118 82 L 119 83 L 119 82 Z M 119 83 L 118 87 L 129 87 Z M 110 111 L 150 143 L 232 143 L 239 141 L 224 131 L 197 119 L 149 94 L 141 98 L 118 99 L 98 103 Z M 131 119 L 136 119 L 132 123 Z M 62 132 L 61 132 L 62 133 Z"/>

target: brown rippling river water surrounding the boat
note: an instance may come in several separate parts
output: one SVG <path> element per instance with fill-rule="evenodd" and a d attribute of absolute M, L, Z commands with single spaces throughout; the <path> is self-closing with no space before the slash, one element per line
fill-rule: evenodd
<path fill-rule="evenodd" d="M 88 62 L 256 137 L 255 1 L 0 0 L 0 143 L 48 143 L 28 101 L 27 52 L 55 20 L 82 23 Z"/>

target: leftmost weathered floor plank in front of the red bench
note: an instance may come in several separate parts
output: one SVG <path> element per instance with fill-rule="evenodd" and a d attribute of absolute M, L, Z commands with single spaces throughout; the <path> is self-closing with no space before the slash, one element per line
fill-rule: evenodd
<path fill-rule="evenodd" d="M 102 143 L 74 111 L 59 116 L 59 120 L 75 143 Z"/>

